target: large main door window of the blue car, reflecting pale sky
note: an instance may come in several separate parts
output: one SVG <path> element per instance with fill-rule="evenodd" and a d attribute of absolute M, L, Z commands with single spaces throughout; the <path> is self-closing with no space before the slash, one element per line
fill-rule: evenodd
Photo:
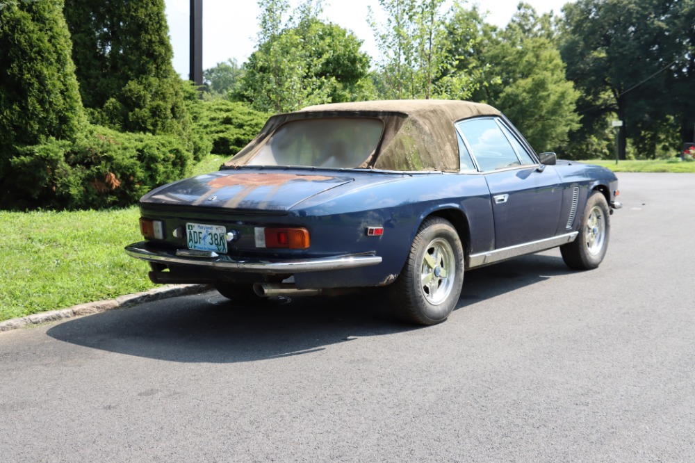
<path fill-rule="evenodd" d="M 520 165 L 514 148 L 495 120 L 464 120 L 459 122 L 458 127 L 466 137 L 471 154 L 483 172 Z"/>

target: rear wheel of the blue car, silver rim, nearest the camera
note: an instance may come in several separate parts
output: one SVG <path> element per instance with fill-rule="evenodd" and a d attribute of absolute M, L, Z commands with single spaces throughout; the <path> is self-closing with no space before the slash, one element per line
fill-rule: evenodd
<path fill-rule="evenodd" d="M 456 229 L 440 217 L 425 219 L 398 279 L 391 303 L 409 323 L 436 325 L 451 314 L 464 282 L 464 247 Z"/>

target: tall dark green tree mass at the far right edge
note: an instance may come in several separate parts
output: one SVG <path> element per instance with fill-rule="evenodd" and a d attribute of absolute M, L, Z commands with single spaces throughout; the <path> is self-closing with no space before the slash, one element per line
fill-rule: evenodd
<path fill-rule="evenodd" d="M 608 117 L 622 120 L 621 159 L 628 138 L 654 156 L 670 124 L 695 122 L 683 104 L 695 96 L 694 10 L 692 0 L 578 0 L 564 7 L 562 56 L 582 90 L 582 124 L 596 133 Z"/>

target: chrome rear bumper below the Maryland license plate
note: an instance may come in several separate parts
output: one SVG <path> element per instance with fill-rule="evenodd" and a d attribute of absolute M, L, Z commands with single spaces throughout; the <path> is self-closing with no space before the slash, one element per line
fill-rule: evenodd
<path fill-rule="evenodd" d="M 340 270 L 343 268 L 355 268 L 375 266 L 382 262 L 382 258 L 374 254 L 351 254 L 335 257 L 321 257 L 317 259 L 232 259 L 231 257 L 215 252 L 206 257 L 187 257 L 177 254 L 175 250 L 160 250 L 147 246 L 147 242 L 140 241 L 126 246 L 126 254 L 136 259 L 156 263 L 183 264 L 188 266 L 202 266 L 218 268 L 220 270 L 243 271 L 253 273 L 277 274 L 317 272 L 325 270 Z M 213 255 L 214 254 L 214 255 Z"/>

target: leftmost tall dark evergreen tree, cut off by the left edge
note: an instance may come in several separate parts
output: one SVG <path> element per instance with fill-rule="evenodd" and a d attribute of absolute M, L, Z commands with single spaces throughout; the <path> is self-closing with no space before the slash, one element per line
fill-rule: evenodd
<path fill-rule="evenodd" d="M 0 3 L 0 169 L 13 146 L 81 130 L 70 47 L 62 0 Z"/>

